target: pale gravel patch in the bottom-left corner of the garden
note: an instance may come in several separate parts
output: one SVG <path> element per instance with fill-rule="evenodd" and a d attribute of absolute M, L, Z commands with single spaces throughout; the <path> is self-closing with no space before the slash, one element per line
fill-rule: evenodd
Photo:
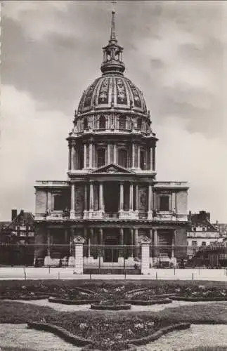
<path fill-rule="evenodd" d="M 0 324 L 1 347 L 27 347 L 37 351 L 79 351 L 81 347 L 66 343 L 46 331 L 27 329 L 27 324 Z"/>

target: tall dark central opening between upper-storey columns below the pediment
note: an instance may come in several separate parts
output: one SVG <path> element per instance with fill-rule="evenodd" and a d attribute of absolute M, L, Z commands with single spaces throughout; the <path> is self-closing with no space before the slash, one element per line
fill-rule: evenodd
<path fill-rule="evenodd" d="M 104 184 L 104 204 L 106 213 L 119 211 L 119 184 L 108 182 Z"/>

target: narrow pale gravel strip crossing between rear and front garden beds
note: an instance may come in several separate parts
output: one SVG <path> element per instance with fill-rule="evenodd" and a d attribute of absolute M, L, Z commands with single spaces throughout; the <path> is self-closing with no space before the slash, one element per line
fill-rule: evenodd
<path fill-rule="evenodd" d="M 5 300 L 5 301 L 11 301 L 11 300 Z M 76 311 L 87 311 L 91 310 L 90 309 L 90 304 L 89 305 L 63 305 L 61 303 L 50 303 L 47 299 L 45 300 L 32 300 L 32 301 L 23 301 L 23 300 L 13 300 L 19 303 L 30 303 L 32 305 L 38 305 L 38 306 L 47 306 L 51 307 L 54 310 L 60 311 L 60 312 L 76 312 Z M 175 308 L 175 307 L 180 307 L 180 306 L 186 306 L 186 305 L 206 305 L 207 303 L 215 303 L 215 301 L 200 301 L 197 303 L 194 303 L 192 301 L 173 301 L 172 303 L 167 303 L 163 305 L 151 305 L 151 306 L 134 306 L 131 305 L 131 310 L 129 311 L 138 311 L 138 312 L 143 312 L 143 311 L 152 311 L 152 312 L 159 312 L 164 310 L 164 308 Z M 227 301 L 221 301 L 221 303 L 226 303 Z M 93 311 L 93 310 L 91 310 Z M 115 311 L 112 311 L 113 313 Z"/>

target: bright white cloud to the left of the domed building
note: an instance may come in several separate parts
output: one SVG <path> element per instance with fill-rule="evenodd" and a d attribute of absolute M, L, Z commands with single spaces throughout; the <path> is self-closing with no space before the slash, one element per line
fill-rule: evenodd
<path fill-rule="evenodd" d="M 26 91 L 1 87 L 1 218 L 11 208 L 34 211 L 34 182 L 66 179 L 67 138 L 72 121 L 40 110 Z"/>

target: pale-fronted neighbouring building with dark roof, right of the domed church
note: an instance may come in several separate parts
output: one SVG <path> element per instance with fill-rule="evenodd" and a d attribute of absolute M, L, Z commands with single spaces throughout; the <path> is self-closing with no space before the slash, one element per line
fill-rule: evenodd
<path fill-rule="evenodd" d="M 222 241 L 218 228 L 210 223 L 210 213 L 189 213 L 190 227 L 187 232 L 188 258 L 192 258 L 201 246 Z"/>

